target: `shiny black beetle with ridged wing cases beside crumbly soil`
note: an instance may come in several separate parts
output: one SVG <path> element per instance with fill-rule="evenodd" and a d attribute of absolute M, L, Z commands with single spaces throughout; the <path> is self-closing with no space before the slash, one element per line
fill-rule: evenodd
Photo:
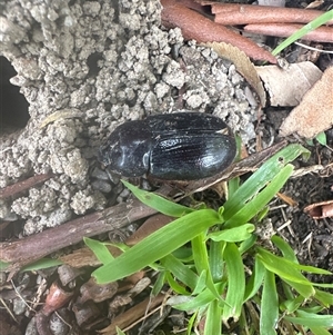
<path fill-rule="evenodd" d="M 195 180 L 224 170 L 235 154 L 234 136 L 220 118 L 175 112 L 120 125 L 99 160 L 124 177 Z"/>

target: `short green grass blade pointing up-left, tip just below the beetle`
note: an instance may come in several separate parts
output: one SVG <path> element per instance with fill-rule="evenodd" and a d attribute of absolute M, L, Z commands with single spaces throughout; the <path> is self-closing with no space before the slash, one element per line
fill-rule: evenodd
<path fill-rule="evenodd" d="M 194 211 L 194 209 L 172 203 L 157 194 L 140 189 L 139 187 L 121 180 L 122 184 L 130 189 L 133 195 L 144 205 L 169 216 L 181 217 L 184 214 Z"/>

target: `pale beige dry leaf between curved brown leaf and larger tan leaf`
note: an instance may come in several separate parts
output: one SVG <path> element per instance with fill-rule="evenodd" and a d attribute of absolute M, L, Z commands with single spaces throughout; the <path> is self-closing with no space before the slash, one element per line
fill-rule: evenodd
<path fill-rule="evenodd" d="M 322 71 L 310 61 L 292 63 L 287 69 L 276 66 L 256 67 L 256 71 L 268 90 L 271 106 L 299 105 L 322 76 Z"/>

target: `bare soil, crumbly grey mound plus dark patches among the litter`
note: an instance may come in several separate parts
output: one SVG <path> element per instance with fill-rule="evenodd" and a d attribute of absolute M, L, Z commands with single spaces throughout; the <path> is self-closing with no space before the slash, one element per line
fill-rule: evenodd
<path fill-rule="evenodd" d="M 287 6 L 292 2 L 299 1 Z M 0 3 L 0 189 L 53 174 L 0 199 L 2 243 L 127 201 L 128 190 L 111 183 L 97 159 L 100 145 L 127 120 L 198 110 L 225 120 L 250 154 L 256 151 L 259 138 L 262 148 L 280 140 L 279 128 L 290 109 L 259 112 L 235 67 L 194 41 L 185 42 L 179 29 L 161 27 L 160 10 L 154 0 Z M 311 158 L 294 164 L 331 164 L 331 170 L 290 179 L 281 193 L 297 206 L 276 198 L 270 220 L 300 262 L 333 272 L 333 219 L 314 220 L 303 211 L 333 198 L 332 129 L 326 137 L 329 148 L 302 142 Z M 54 269 L 20 273 L 13 283 L 26 299 L 43 300 L 56 277 Z M 81 278 L 88 279 L 84 274 Z M 34 334 L 34 314 L 4 280 L 1 295 L 18 321 L 8 322 L 1 309 L 3 334 Z"/>

